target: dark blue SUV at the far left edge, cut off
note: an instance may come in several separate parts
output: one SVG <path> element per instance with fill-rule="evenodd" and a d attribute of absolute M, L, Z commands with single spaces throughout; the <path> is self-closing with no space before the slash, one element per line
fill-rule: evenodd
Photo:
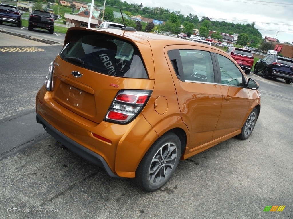
<path fill-rule="evenodd" d="M 3 22 L 17 24 L 17 27 L 21 27 L 22 13 L 16 6 L 0 4 L 0 24 Z"/>

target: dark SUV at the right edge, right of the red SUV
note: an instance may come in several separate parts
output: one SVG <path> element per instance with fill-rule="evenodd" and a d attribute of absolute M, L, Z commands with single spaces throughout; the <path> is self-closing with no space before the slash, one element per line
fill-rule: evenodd
<path fill-rule="evenodd" d="M 287 84 L 293 80 L 293 60 L 277 55 L 268 55 L 255 63 L 253 73 L 263 73 L 263 78 L 274 77 L 285 79 Z"/>

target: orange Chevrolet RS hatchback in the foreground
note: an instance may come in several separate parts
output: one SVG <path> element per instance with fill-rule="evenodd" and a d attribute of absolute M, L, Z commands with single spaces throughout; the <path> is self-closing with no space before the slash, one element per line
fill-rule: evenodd
<path fill-rule="evenodd" d="M 155 191 L 180 159 L 247 139 L 260 113 L 257 89 L 212 46 L 73 27 L 36 96 L 37 121 L 110 176 Z"/>

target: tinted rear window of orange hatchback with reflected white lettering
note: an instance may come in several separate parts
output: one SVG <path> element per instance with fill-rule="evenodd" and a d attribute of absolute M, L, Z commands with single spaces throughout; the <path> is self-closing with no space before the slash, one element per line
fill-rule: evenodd
<path fill-rule="evenodd" d="M 133 44 L 100 33 L 74 35 L 60 57 L 74 65 L 115 77 L 148 78 L 141 55 Z"/>

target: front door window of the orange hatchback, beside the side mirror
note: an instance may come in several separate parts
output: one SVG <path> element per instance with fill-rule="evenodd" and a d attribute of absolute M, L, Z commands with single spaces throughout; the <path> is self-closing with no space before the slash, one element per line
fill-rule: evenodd
<path fill-rule="evenodd" d="M 239 68 L 228 58 L 217 54 L 222 84 L 243 86 L 243 75 Z"/>

